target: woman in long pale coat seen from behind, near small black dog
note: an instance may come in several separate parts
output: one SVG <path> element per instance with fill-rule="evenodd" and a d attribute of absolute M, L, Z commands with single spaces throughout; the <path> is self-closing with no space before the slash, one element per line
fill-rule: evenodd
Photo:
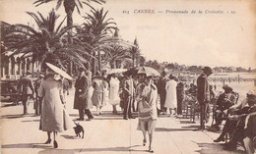
<path fill-rule="evenodd" d="M 42 110 L 40 119 L 40 129 L 47 131 L 48 140 L 51 142 L 50 133 L 53 132 L 54 148 L 58 147 L 56 133 L 72 128 L 72 121 L 65 111 L 65 100 L 63 99 L 63 85 L 61 79 L 56 80 L 57 76 L 52 70 L 46 70 L 46 77 L 42 80 L 38 96 L 42 97 Z"/>

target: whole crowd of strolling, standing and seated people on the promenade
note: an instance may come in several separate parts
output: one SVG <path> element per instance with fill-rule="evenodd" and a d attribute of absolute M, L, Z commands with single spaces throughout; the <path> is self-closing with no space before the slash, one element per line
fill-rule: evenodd
<path fill-rule="evenodd" d="M 153 134 L 157 126 L 159 115 L 169 114 L 169 117 L 181 118 L 186 107 L 186 98 L 196 100 L 200 111 L 200 129 L 205 129 L 210 117 L 210 104 L 214 105 L 213 118 L 215 124 L 212 130 L 223 132 L 215 142 L 224 141 L 226 133 L 229 141 L 224 144 L 225 149 L 235 150 L 238 141 L 243 140 L 243 145 L 248 153 L 253 151 L 253 139 L 256 134 L 256 96 L 255 91 L 247 93 L 244 101 L 238 101 L 239 94 L 232 87 L 224 85 L 224 93 L 216 95 L 208 77 L 213 74 L 209 67 L 203 69 L 203 74 L 197 78 L 196 84 L 187 85 L 177 77 L 163 70 L 160 77 L 111 74 L 99 72 L 95 77 L 85 68 L 79 69 L 75 80 L 74 109 L 78 110 L 78 121 L 92 121 L 95 116 L 101 115 L 102 108 L 109 103 L 112 105 L 112 114 L 118 115 L 121 108 L 123 120 L 138 117 L 138 130 L 143 132 L 143 145 L 147 143 L 149 134 L 149 151 L 153 150 Z M 47 131 L 50 143 L 50 134 L 54 134 L 54 147 L 57 147 L 56 132 L 63 131 L 72 126 L 69 115 L 65 112 L 65 97 L 69 94 L 70 81 L 59 76 L 54 70 L 47 69 L 45 77 L 40 75 L 33 84 L 31 73 L 22 77 L 18 88 L 22 93 L 24 114 L 28 114 L 30 99 L 35 101 L 35 115 L 40 115 L 40 129 Z M 214 100 L 214 101 L 213 101 Z M 159 104 L 160 102 L 160 104 Z M 96 114 L 91 109 L 96 107 Z M 194 107 L 196 105 L 194 104 Z M 239 115 L 239 116 L 237 116 Z"/>

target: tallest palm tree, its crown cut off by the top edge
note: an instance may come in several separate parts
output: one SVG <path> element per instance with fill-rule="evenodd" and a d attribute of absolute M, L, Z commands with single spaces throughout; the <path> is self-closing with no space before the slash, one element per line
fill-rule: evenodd
<path fill-rule="evenodd" d="M 53 0 L 36 0 L 33 2 L 33 4 L 35 5 L 35 7 L 43 4 L 43 3 L 48 3 L 51 2 Z M 89 6 L 90 8 L 93 8 L 91 5 L 91 2 L 95 2 L 98 4 L 102 4 L 105 3 L 104 0 L 87 0 L 87 1 L 83 1 L 83 0 L 58 0 L 57 1 L 57 5 L 56 5 L 56 10 L 58 10 L 61 5 L 63 4 L 64 8 L 65 8 L 65 12 L 67 14 L 67 26 L 73 26 L 73 12 L 75 10 L 75 8 L 77 9 L 78 13 L 80 14 L 80 9 L 83 9 L 83 4 Z M 71 30 L 69 31 L 69 42 L 72 43 L 72 36 L 71 36 Z"/>

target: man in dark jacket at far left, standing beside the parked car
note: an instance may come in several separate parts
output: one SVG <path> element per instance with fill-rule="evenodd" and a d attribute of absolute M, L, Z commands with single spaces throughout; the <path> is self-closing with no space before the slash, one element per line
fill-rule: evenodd
<path fill-rule="evenodd" d="M 28 114 L 30 99 L 33 97 L 34 94 L 33 81 L 30 75 L 32 75 L 32 73 L 28 71 L 26 73 L 26 76 L 22 77 L 18 84 L 19 95 L 22 94 L 24 115 Z"/>

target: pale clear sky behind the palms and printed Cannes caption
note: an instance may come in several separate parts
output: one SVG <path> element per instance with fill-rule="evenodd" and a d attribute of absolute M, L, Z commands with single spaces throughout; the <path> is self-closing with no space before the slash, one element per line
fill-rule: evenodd
<path fill-rule="evenodd" d="M 33 24 L 26 12 L 38 11 L 46 16 L 56 5 L 53 1 L 34 7 L 33 1 L 1 0 L 1 20 L 9 24 Z M 147 60 L 255 69 L 255 3 L 254 0 L 107 0 L 94 7 L 108 11 L 107 18 L 114 19 L 124 40 L 133 42 L 137 38 Z M 155 14 L 142 13 L 142 10 L 154 10 Z M 191 13 L 193 10 L 195 14 Z M 223 14 L 209 13 L 221 11 Z M 86 6 L 81 15 L 75 10 L 74 24 L 81 25 L 86 12 L 89 13 Z M 65 18 L 63 8 L 57 10 L 57 14 L 61 20 Z"/>

